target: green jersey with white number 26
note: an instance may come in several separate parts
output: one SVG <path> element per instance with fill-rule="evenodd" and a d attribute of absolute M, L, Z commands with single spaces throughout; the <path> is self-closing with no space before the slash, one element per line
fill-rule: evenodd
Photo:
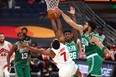
<path fill-rule="evenodd" d="M 74 41 L 71 41 L 70 43 L 65 42 L 65 45 L 67 46 L 69 50 L 70 57 L 74 62 L 76 62 L 76 59 L 78 58 L 78 47 L 75 44 Z"/>

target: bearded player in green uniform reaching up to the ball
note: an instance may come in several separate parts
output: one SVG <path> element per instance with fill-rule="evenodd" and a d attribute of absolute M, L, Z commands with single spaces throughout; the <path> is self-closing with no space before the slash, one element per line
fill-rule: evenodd
<path fill-rule="evenodd" d="M 102 51 L 111 55 L 114 60 L 114 55 L 100 42 L 99 38 L 96 37 L 94 29 L 96 24 L 93 21 L 87 21 L 84 26 L 75 23 L 70 17 L 68 17 L 60 9 L 58 13 L 61 13 L 63 19 L 73 28 L 77 29 L 81 34 L 82 43 L 85 45 L 85 54 L 87 56 L 88 77 L 101 77 L 101 66 L 102 58 L 96 53 L 96 46 L 98 46 Z"/>

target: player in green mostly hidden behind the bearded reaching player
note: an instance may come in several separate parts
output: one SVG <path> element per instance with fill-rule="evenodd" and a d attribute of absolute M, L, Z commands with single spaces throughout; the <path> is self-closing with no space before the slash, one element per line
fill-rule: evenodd
<path fill-rule="evenodd" d="M 98 31 L 97 35 L 98 35 L 100 41 L 102 42 L 102 44 L 104 46 L 106 46 L 107 40 L 106 40 L 105 35 L 103 34 L 103 28 L 98 28 L 97 31 Z M 96 49 L 97 49 L 96 52 L 100 55 L 100 57 L 104 58 L 104 56 L 105 56 L 104 52 L 101 51 L 99 47 L 97 47 Z"/>

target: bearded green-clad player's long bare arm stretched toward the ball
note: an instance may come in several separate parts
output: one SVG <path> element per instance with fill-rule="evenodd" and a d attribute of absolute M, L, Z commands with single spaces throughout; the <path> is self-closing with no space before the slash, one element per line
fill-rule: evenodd
<path fill-rule="evenodd" d="M 76 24 L 69 16 L 67 16 L 63 11 L 61 11 L 61 15 L 63 17 L 63 19 L 73 28 L 75 28 L 76 30 L 78 30 L 80 32 L 80 34 L 83 33 L 83 26 Z"/>

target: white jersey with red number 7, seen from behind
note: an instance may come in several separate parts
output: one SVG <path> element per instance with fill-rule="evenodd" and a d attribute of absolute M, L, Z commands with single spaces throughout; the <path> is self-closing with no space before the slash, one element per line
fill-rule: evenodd
<path fill-rule="evenodd" d="M 59 69 L 73 62 L 70 58 L 69 51 L 64 44 L 60 43 L 59 49 L 56 50 L 54 48 L 51 48 L 51 50 L 53 50 L 53 52 L 55 52 L 56 54 L 52 59 Z"/>

